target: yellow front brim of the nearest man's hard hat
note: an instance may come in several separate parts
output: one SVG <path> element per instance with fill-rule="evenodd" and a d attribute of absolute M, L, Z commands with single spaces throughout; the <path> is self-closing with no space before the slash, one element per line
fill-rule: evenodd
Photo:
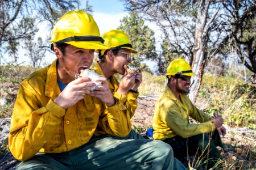
<path fill-rule="evenodd" d="M 76 46 L 77 48 L 82 48 L 82 49 L 94 49 L 94 50 L 109 49 L 108 46 L 98 41 L 69 41 L 65 43 Z"/>

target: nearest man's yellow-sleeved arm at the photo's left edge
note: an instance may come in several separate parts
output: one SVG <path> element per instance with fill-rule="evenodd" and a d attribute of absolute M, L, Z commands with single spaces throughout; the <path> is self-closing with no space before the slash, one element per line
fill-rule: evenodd
<path fill-rule="evenodd" d="M 49 99 L 45 107 L 36 91 L 25 81 L 19 86 L 9 133 L 9 148 L 14 157 L 26 161 L 51 139 L 61 124 L 65 109 Z"/>

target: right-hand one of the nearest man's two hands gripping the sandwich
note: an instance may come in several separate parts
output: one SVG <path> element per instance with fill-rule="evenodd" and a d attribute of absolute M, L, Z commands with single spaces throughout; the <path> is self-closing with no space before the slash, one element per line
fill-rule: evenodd
<path fill-rule="evenodd" d="M 96 86 L 93 91 L 90 91 L 89 95 L 93 97 L 98 97 L 101 101 L 103 101 L 108 106 L 114 105 L 115 99 L 112 92 L 109 89 L 106 78 L 101 77 L 95 81 L 101 82 L 102 86 Z"/>

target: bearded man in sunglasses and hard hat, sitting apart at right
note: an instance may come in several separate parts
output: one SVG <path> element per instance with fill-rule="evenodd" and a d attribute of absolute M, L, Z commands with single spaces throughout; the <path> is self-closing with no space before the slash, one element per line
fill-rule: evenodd
<path fill-rule="evenodd" d="M 174 59 L 167 67 L 166 75 L 167 86 L 155 105 L 153 138 L 171 145 L 177 159 L 182 159 L 187 154 L 199 154 L 201 158 L 202 154 L 203 160 L 208 159 L 208 168 L 213 167 L 221 158 L 216 148 L 223 147 L 219 134 L 226 134 L 222 126 L 223 118 L 217 116 L 210 119 L 208 114 L 197 109 L 189 100 L 187 94 L 191 76 L 195 74 L 187 61 Z M 189 116 L 200 123 L 189 123 Z"/>

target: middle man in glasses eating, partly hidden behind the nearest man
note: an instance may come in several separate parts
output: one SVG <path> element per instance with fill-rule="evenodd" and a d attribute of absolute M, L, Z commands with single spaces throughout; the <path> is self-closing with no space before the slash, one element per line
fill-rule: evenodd
<path fill-rule="evenodd" d="M 109 49 L 99 50 L 98 61 L 94 63 L 92 69 L 108 79 L 110 91 L 112 91 L 115 99 L 127 109 L 127 120 L 130 120 L 137 108 L 138 87 L 142 82 L 142 73 L 141 69 L 127 73 L 125 67 L 132 62 L 131 53 L 138 52 L 133 49 L 129 37 L 121 30 L 110 29 L 101 37 Z M 114 76 L 116 73 L 123 75 L 120 83 Z M 106 117 L 106 114 L 104 117 Z M 101 124 L 105 124 L 106 118 L 104 117 L 101 117 Z M 129 124 L 131 124 L 131 121 L 129 121 Z M 104 134 L 104 131 L 98 128 L 96 134 Z M 126 138 L 143 139 L 133 129 Z"/>

